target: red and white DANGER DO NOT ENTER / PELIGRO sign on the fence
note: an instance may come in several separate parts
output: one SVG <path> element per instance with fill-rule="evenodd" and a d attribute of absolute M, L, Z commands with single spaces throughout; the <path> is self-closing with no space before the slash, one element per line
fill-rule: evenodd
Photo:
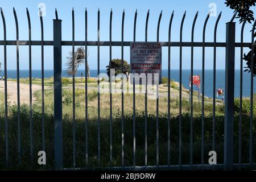
<path fill-rule="evenodd" d="M 144 73 L 147 79 L 159 77 L 159 84 L 162 80 L 162 47 L 155 42 L 133 42 L 130 46 L 131 73 Z"/>

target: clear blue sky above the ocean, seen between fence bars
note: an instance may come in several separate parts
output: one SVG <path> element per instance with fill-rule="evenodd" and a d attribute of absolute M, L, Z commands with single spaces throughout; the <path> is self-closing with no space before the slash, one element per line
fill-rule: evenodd
<path fill-rule="evenodd" d="M 147 10 L 150 10 L 150 18 L 148 21 L 148 41 L 156 41 L 156 26 L 158 22 L 159 13 L 163 10 L 162 21 L 160 24 L 160 41 L 168 40 L 168 23 L 172 10 L 174 10 L 174 21 L 172 26 L 172 41 L 179 41 L 179 30 L 182 15 L 187 10 L 187 16 L 184 22 L 183 28 L 183 40 L 185 42 L 191 41 L 191 28 L 193 18 L 196 11 L 199 11 L 195 27 L 195 42 L 202 41 L 203 24 L 205 17 L 210 10 L 209 4 L 215 3 L 217 15 L 222 11 L 220 23 L 217 30 L 217 41 L 225 42 L 225 23 L 230 20 L 233 15 L 233 10 L 226 7 L 224 0 L 180 0 L 180 1 L 152 1 L 152 0 L 140 0 L 140 1 L 104 1 L 104 0 L 76 0 L 76 1 L 59 1 L 59 0 L 23 0 L 23 1 L 2 1 L 1 7 L 5 13 L 7 22 L 7 39 L 15 40 L 16 30 L 15 21 L 13 15 L 13 7 L 15 7 L 19 21 L 19 39 L 28 40 L 28 23 L 26 15 L 26 7 L 30 11 L 31 25 L 32 25 L 32 40 L 40 40 L 40 19 L 38 16 L 38 5 L 44 3 L 46 5 L 46 16 L 44 19 L 44 39 L 52 40 L 52 19 L 55 18 L 55 7 L 58 10 L 59 19 L 63 20 L 63 40 L 72 40 L 72 7 L 75 10 L 75 40 L 84 40 L 85 35 L 85 20 L 84 11 L 88 10 L 88 40 L 97 40 L 97 11 L 98 8 L 101 12 L 101 30 L 100 40 L 109 40 L 109 16 L 110 9 L 113 9 L 113 41 L 121 40 L 121 21 L 122 11 L 125 9 L 125 41 L 133 40 L 133 22 L 134 13 L 138 9 L 137 17 L 137 41 L 144 40 L 144 29 Z M 255 12 L 255 7 L 252 9 Z M 217 17 L 210 17 L 207 25 L 207 42 L 213 42 L 214 24 Z M 240 41 L 241 24 L 236 19 L 236 42 Z M 246 24 L 244 40 L 250 42 L 250 30 L 251 24 Z M 0 40 L 3 39 L 3 27 L 2 19 L 0 20 Z M 7 48 L 7 69 L 16 69 L 16 53 L 15 46 L 8 46 Z M 63 47 L 63 68 L 65 68 L 65 62 L 68 52 L 72 50 L 72 47 Z M 190 53 L 191 48 L 183 49 L 183 68 L 190 69 Z M 212 69 L 213 67 L 213 48 L 206 48 L 206 69 Z M 3 64 L 3 46 L 0 46 L 0 61 Z M 247 52 L 247 49 L 245 49 Z M 162 64 L 163 69 L 167 68 L 167 48 L 163 47 L 162 51 Z M 40 47 L 32 47 L 32 69 L 41 69 L 40 67 Z M 45 69 L 53 68 L 53 48 L 52 46 L 45 47 Z M 113 47 L 113 59 L 121 57 L 121 47 Z M 130 48 L 125 47 L 124 58 L 129 62 L 130 60 Z M 109 47 L 101 47 L 100 49 L 100 68 L 105 69 L 109 62 Z M 97 47 L 89 47 L 89 67 L 90 69 L 97 69 Z M 201 48 L 195 48 L 194 68 L 201 69 Z M 239 68 L 240 61 L 240 49 L 236 49 L 236 68 Z M 84 67 L 82 67 L 84 68 Z M 171 48 L 171 69 L 179 68 L 179 48 Z M 225 68 L 225 48 L 217 48 L 217 69 Z M 28 69 L 28 47 L 20 46 L 20 69 Z"/>

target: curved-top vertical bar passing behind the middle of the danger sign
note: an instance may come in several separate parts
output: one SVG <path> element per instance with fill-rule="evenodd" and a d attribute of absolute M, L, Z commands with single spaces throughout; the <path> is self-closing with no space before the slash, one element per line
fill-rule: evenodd
<path fill-rule="evenodd" d="M 147 42 L 148 17 L 149 17 L 149 10 L 147 11 L 147 18 L 146 18 L 145 42 Z M 145 90 L 146 91 L 145 92 L 145 167 L 147 167 L 147 80 L 146 80 L 146 88 L 145 89 L 146 89 Z"/>

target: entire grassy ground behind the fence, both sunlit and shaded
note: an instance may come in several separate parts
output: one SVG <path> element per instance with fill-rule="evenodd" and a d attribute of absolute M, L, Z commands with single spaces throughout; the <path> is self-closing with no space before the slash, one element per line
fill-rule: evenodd
<path fill-rule="evenodd" d="M 50 81 L 49 81 L 50 82 Z M 39 84 L 39 83 L 38 83 Z M 93 83 L 92 83 L 93 84 Z M 69 85 L 69 81 L 67 83 Z M 97 84 L 96 84 L 97 85 Z M 165 88 L 167 89 L 167 88 Z M 178 92 L 178 90 L 177 90 Z M 196 92 L 195 92 L 196 94 Z M 22 141 L 22 163 L 17 165 L 17 106 L 10 105 L 9 111 L 9 147 L 10 165 L 5 166 L 5 115 L 3 106 L 3 94 L 0 94 L 0 169 L 42 169 L 37 164 L 37 152 L 42 150 L 42 94 L 41 91 L 34 93 L 36 101 L 32 107 L 33 129 L 34 129 L 34 166 L 30 163 L 30 119 L 29 107 L 20 107 L 21 141 Z M 54 107 L 53 89 L 46 89 L 44 95 L 45 122 L 46 122 L 46 169 L 54 169 Z M 85 91 L 76 89 L 76 163 L 77 167 L 85 167 Z M 98 93 L 88 90 L 88 161 L 90 167 L 98 167 L 97 164 L 97 131 L 98 131 Z M 101 129 L 101 167 L 109 166 L 109 124 L 110 124 L 110 101 L 109 94 L 100 94 L 100 129 Z M 113 166 L 121 166 L 121 94 L 112 94 L 113 106 Z M 136 94 L 136 164 L 144 165 L 144 94 Z M 253 100 L 253 115 L 256 118 L 256 100 Z M 63 89 L 63 146 L 64 167 L 71 168 L 73 163 L 73 112 L 72 112 L 72 90 Z M 156 101 L 148 100 L 148 165 L 155 165 L 156 156 Z M 179 100 L 171 99 L 171 164 L 178 164 L 179 159 Z M 234 101 L 234 163 L 238 163 L 238 125 L 240 102 L 238 98 Z M 182 102 L 182 163 L 189 164 L 190 146 L 190 103 L 187 99 Z M 205 163 L 208 163 L 208 152 L 212 150 L 212 99 L 205 98 Z M 159 165 L 167 165 L 167 97 L 159 98 Z M 255 119 L 253 119 L 253 140 L 256 140 Z M 224 104 L 217 100 L 216 105 L 216 152 L 217 163 L 223 163 L 224 152 Z M 124 128 L 125 128 L 125 166 L 133 165 L 133 94 L 124 94 Z M 250 129 L 250 100 L 243 99 L 242 104 L 242 163 L 249 162 L 249 129 Z M 256 153 L 253 154 L 256 160 Z M 201 102 L 195 100 L 193 103 L 193 163 L 201 163 Z"/>

